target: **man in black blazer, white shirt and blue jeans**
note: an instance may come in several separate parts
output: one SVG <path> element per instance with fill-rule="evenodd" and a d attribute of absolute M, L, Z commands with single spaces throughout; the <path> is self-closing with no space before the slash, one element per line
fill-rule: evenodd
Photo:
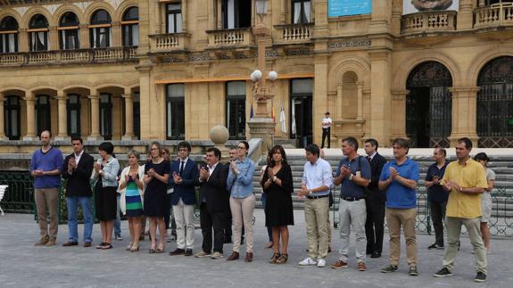
<path fill-rule="evenodd" d="M 93 242 L 93 191 L 89 178 L 93 171 L 93 156 L 84 152 L 82 138 L 71 137 L 73 152 L 66 156 L 62 166 L 62 178 L 66 182 L 66 200 L 68 202 L 68 228 L 70 237 L 62 246 L 79 244 L 79 229 L 77 220 L 78 205 L 84 216 L 84 247 L 90 247 Z"/>

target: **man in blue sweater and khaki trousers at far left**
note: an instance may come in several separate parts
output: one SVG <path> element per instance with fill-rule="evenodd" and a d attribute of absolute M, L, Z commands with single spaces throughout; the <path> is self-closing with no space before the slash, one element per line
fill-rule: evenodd
<path fill-rule="evenodd" d="M 54 246 L 57 239 L 59 219 L 59 187 L 61 186 L 62 152 L 50 145 L 52 134 L 41 132 L 41 149 L 32 154 L 30 175 L 34 177 L 34 198 L 37 207 L 37 221 L 41 238 L 36 246 Z M 50 227 L 46 222 L 50 215 Z"/>

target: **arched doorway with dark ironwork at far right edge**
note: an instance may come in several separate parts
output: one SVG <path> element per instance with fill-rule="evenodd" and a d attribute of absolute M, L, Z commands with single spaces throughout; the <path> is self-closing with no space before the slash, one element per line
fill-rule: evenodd
<path fill-rule="evenodd" d="M 477 86 L 477 136 L 479 147 L 513 147 L 513 57 L 486 63 Z"/>

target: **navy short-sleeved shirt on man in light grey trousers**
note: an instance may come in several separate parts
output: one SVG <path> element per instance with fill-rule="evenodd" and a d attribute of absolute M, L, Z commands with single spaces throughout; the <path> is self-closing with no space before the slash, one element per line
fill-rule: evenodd
<path fill-rule="evenodd" d="M 361 167 L 359 166 L 359 163 Z M 356 175 L 356 172 L 360 171 L 360 177 L 370 180 L 370 164 L 364 157 L 358 156 L 351 161 L 347 157 L 343 158 L 343 160 L 340 160 L 338 163 L 338 168 L 336 169 L 335 177 L 340 176 L 340 169 L 343 165 L 351 169 L 352 175 Z M 344 177 L 340 185 L 340 196 L 357 198 L 364 197 L 365 187 L 354 183 L 349 179 L 349 177 Z"/>

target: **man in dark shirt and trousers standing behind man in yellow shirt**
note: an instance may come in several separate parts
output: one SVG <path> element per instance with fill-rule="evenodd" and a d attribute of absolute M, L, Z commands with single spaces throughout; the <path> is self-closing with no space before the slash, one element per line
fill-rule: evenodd
<path fill-rule="evenodd" d="M 442 182 L 445 168 L 449 161 L 445 160 L 447 152 L 443 148 L 434 148 L 434 163 L 429 166 L 426 173 L 427 201 L 431 211 L 434 226 L 434 243 L 427 249 L 443 249 L 443 218 L 449 194 L 443 190 Z"/>

